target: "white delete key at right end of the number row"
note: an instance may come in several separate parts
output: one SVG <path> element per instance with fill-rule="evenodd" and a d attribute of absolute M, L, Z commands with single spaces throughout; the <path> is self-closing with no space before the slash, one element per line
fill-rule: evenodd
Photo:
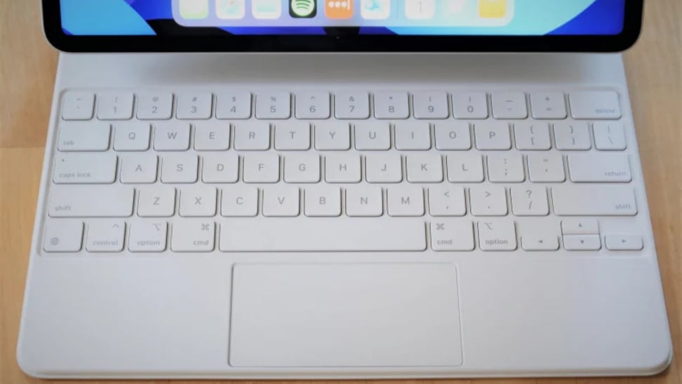
<path fill-rule="evenodd" d="M 620 101 L 614 91 L 582 91 L 569 95 L 573 119 L 620 119 Z"/>

